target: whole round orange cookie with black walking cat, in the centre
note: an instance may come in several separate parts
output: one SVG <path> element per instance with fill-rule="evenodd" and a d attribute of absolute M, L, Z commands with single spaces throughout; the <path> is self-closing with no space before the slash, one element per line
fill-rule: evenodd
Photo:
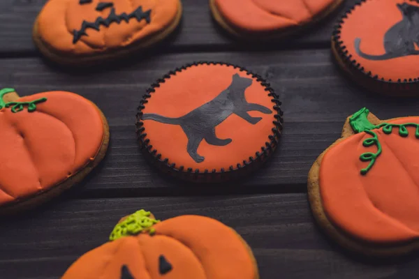
<path fill-rule="evenodd" d="M 193 63 L 147 90 L 138 107 L 138 140 L 152 163 L 181 179 L 233 179 L 276 149 L 280 105 L 270 84 L 244 68 Z"/>

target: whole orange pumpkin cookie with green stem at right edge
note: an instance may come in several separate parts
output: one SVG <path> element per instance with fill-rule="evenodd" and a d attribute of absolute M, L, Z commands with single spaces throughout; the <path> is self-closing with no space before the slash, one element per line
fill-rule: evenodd
<path fill-rule="evenodd" d="M 365 108 L 309 172 L 311 209 L 333 239 L 368 255 L 419 249 L 419 116 L 381 121 Z"/>

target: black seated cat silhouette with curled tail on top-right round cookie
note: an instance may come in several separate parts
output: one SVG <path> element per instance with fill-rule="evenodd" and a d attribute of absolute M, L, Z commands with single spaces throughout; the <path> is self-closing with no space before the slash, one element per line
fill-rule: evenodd
<path fill-rule="evenodd" d="M 419 43 L 419 7 L 402 3 L 397 4 L 397 8 L 402 12 L 403 19 L 385 32 L 385 54 L 365 54 L 360 50 L 361 39 L 355 38 L 355 51 L 359 56 L 369 60 L 387 60 L 419 54 L 416 50 Z"/>

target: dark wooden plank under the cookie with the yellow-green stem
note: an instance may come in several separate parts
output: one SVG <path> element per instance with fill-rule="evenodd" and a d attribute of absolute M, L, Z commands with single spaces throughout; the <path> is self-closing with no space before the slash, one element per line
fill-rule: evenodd
<path fill-rule="evenodd" d="M 348 257 L 318 231 L 305 194 L 80 199 L 4 221 L 0 271 L 6 279 L 59 278 L 80 255 L 107 241 L 122 216 L 145 208 L 165 220 L 210 216 L 249 243 L 260 278 L 413 278 L 419 261 L 373 266 Z M 5 277 L 2 277 L 5 278 Z"/>

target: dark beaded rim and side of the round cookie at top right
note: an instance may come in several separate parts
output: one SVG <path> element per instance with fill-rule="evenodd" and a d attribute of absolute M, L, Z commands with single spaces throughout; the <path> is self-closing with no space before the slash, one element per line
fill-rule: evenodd
<path fill-rule="evenodd" d="M 399 79 L 397 81 L 392 81 L 391 79 L 386 79 L 385 77 L 379 77 L 372 73 L 372 71 L 365 71 L 365 68 L 353 58 L 352 54 L 349 54 L 346 50 L 346 45 L 344 41 L 341 40 L 341 29 L 344 24 L 344 20 L 348 18 L 349 15 L 355 10 L 357 6 L 362 6 L 362 4 L 371 0 L 360 0 L 355 3 L 351 8 L 348 8 L 344 15 L 337 21 L 335 27 L 332 31 L 332 54 L 337 60 L 338 66 L 344 70 L 346 75 L 348 75 L 356 83 L 365 86 L 370 91 L 377 93 L 384 93 L 390 96 L 415 96 L 418 93 L 415 93 L 419 89 L 419 77 L 414 79 Z M 409 0 L 415 3 L 419 3 L 418 0 Z"/>

